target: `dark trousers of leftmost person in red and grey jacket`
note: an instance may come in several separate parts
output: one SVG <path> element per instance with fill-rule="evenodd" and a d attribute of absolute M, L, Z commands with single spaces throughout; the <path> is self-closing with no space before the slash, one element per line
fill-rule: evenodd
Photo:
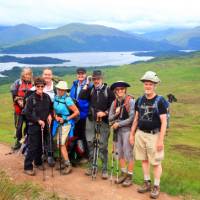
<path fill-rule="evenodd" d="M 26 132 L 27 132 L 27 124 L 26 124 L 24 130 L 22 130 L 24 122 L 26 122 L 26 121 L 25 121 L 25 118 L 23 115 L 15 114 L 16 138 L 18 141 L 20 141 L 22 139 L 22 133 L 24 135 L 26 135 Z"/>

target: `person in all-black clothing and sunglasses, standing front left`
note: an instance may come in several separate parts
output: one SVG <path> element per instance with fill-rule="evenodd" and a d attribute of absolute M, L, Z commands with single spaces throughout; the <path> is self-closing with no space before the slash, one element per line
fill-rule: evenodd
<path fill-rule="evenodd" d="M 28 97 L 24 114 L 28 122 L 28 150 L 24 160 L 24 173 L 35 175 L 36 168 L 42 170 L 42 132 L 48 134 L 48 124 L 51 124 L 52 102 L 49 95 L 43 92 L 45 81 L 38 77 L 34 81 L 35 92 Z M 45 138 L 43 138 L 45 139 Z"/>

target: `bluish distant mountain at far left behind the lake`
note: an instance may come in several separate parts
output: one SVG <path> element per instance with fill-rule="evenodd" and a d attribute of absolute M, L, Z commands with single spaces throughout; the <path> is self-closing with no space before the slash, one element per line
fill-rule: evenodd
<path fill-rule="evenodd" d="M 0 46 L 15 44 L 16 42 L 38 36 L 43 32 L 43 30 L 27 24 L 10 27 L 2 26 L 0 27 Z"/>

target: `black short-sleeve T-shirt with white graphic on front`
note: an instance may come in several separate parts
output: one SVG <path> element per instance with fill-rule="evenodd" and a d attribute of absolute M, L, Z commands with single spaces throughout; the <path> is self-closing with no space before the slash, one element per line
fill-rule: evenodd
<path fill-rule="evenodd" d="M 155 101 L 157 97 L 158 96 L 156 95 L 152 99 L 147 99 L 145 96 L 143 96 L 137 99 L 135 110 L 139 113 L 139 129 L 151 131 L 161 128 L 160 115 L 167 114 L 167 108 L 164 103 L 166 100 L 161 97 L 160 100 L 157 102 L 156 108 Z"/>

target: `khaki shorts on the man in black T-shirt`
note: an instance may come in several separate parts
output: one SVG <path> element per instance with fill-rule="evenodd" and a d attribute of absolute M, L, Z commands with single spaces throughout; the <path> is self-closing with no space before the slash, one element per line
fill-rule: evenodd
<path fill-rule="evenodd" d="M 164 159 L 164 150 L 157 151 L 159 133 L 150 134 L 137 130 L 135 134 L 135 160 L 148 160 L 152 165 L 159 165 Z"/>

